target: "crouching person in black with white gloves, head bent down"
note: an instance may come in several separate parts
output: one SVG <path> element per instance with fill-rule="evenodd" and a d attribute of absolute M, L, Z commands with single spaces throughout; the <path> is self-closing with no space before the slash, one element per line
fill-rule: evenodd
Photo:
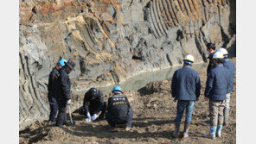
<path fill-rule="evenodd" d="M 83 106 L 79 111 L 80 115 L 86 116 L 86 122 L 95 121 L 96 119 L 102 120 L 104 118 L 106 103 L 104 103 L 102 95 L 102 92 L 95 88 L 91 88 L 86 92 Z M 101 114 L 99 115 L 100 111 Z"/>

